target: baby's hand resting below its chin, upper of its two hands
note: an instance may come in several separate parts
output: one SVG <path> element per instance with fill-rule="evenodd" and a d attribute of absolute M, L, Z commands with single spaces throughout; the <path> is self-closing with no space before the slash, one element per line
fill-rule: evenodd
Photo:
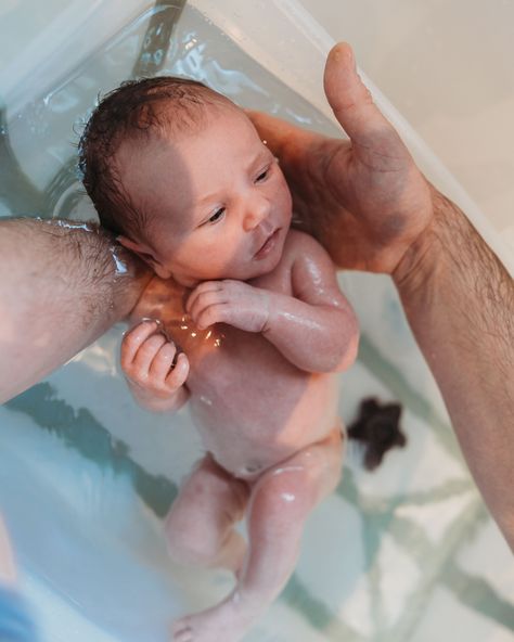
<path fill-rule="evenodd" d="M 246 332 L 262 332 L 269 318 L 269 294 L 243 281 L 204 281 L 190 294 L 185 310 L 200 330 L 229 323 Z"/>

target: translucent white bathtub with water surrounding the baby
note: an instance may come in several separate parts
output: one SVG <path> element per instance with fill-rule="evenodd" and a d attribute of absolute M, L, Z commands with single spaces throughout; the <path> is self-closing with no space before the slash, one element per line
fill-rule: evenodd
<path fill-rule="evenodd" d="M 1 216 L 94 216 L 74 143 L 98 93 L 132 74 L 193 75 L 241 104 L 338 136 L 321 89 L 336 23 L 321 3 L 157 4 L 12 0 L 0 9 Z M 507 234 L 367 80 L 423 170 L 512 269 Z M 374 473 L 350 447 L 293 578 L 246 639 L 425 642 L 459 631 L 468 642 L 507 642 L 512 556 L 396 293 L 387 278 L 344 273 L 340 283 L 362 326 L 358 361 L 340 377 L 342 416 L 351 421 L 365 396 L 399 400 L 408 445 Z M 117 363 L 121 331 L 0 408 L 0 509 L 47 642 L 164 642 L 174 617 L 231 588 L 221 572 L 167 557 L 163 516 L 201 445 L 187 411 L 169 420 L 134 405 Z"/>

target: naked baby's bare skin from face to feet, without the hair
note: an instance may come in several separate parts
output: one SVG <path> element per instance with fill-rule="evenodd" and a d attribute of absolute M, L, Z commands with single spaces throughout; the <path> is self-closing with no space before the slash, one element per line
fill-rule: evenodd
<path fill-rule="evenodd" d="M 290 230 L 286 183 L 247 117 L 218 111 L 200 133 L 140 150 L 137 167 L 129 149 L 117 158 L 131 201 L 156 213 L 150 241 L 121 239 L 158 274 L 132 317 L 160 320 L 125 336 L 121 365 L 145 407 L 189 400 L 208 451 L 168 515 L 171 555 L 237 577 L 222 603 L 178 620 L 174 640 L 236 642 L 339 479 L 334 373 L 354 362 L 358 328 L 325 251 Z M 234 531 L 245 514 L 247 548 Z"/>

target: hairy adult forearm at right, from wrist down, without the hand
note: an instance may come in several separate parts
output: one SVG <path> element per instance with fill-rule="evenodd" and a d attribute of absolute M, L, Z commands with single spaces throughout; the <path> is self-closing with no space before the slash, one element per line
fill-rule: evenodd
<path fill-rule="evenodd" d="M 514 282 L 434 191 L 431 229 L 394 279 L 486 503 L 514 549 Z"/>

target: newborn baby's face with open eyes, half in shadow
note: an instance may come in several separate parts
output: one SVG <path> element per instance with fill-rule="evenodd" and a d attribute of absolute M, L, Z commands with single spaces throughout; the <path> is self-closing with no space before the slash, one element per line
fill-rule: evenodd
<path fill-rule="evenodd" d="M 217 107 L 174 141 L 121 155 L 124 183 L 152 213 L 146 254 L 163 278 L 246 281 L 274 269 L 292 200 L 275 158 L 246 115 Z"/>

